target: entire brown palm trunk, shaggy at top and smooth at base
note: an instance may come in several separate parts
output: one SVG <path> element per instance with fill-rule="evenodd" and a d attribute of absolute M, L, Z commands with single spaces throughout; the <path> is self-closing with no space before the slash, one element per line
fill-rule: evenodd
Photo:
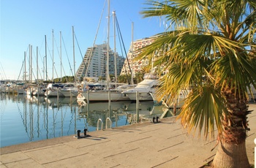
<path fill-rule="evenodd" d="M 219 134 L 219 147 L 214 157 L 213 167 L 247 168 L 249 160 L 246 155 L 246 131 L 249 114 L 246 98 L 226 90 L 227 111 L 222 120 L 223 131 Z M 238 93 L 238 92 L 237 92 Z"/>

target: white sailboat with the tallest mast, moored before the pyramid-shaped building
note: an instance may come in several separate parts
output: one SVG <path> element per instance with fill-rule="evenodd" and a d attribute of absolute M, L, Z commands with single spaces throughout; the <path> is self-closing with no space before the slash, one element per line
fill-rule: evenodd
<path fill-rule="evenodd" d="M 115 15 L 115 13 L 113 12 Z M 124 91 L 122 87 L 117 87 L 114 89 L 110 89 L 110 80 L 109 80 L 109 33 L 110 33 L 110 0 L 108 0 L 108 42 L 107 42 L 107 67 L 106 67 L 106 76 L 107 76 L 107 83 L 106 83 L 106 89 L 104 90 L 87 90 L 87 91 L 81 91 L 77 98 L 78 99 L 86 99 L 87 101 L 98 101 L 98 102 L 104 102 L 104 101 L 124 101 L 129 100 L 129 97 L 122 93 Z"/>

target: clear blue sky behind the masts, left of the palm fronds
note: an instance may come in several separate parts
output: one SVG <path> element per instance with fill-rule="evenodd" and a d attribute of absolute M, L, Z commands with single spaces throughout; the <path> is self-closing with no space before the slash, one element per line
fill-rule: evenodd
<path fill-rule="evenodd" d="M 111 49 L 113 49 L 114 41 L 113 11 L 116 11 L 127 52 L 132 42 L 132 34 L 135 41 L 165 31 L 159 18 L 143 18 L 140 15 L 140 11 L 146 7 L 146 4 L 143 4 L 145 2 L 146 0 L 110 0 Z M 76 72 L 86 49 L 94 45 L 94 40 L 96 40 L 96 45 L 107 41 L 108 1 L 106 0 L 1 0 L 0 3 L 0 80 L 21 80 L 23 78 L 22 67 L 25 52 L 26 72 L 29 74 L 29 45 L 32 46 L 33 79 L 37 77 L 37 48 L 39 78 L 43 78 L 45 37 L 49 79 L 52 76 L 60 77 L 61 61 L 62 69 L 64 69 L 62 76 L 71 76 L 74 72 L 74 65 Z M 101 15 L 102 19 L 100 19 Z M 72 27 L 76 37 L 74 45 Z M 96 34 L 97 38 L 95 38 Z M 73 46 L 75 46 L 75 55 Z M 116 45 L 116 50 L 121 53 L 118 45 Z M 54 72 L 53 62 L 56 69 Z"/>

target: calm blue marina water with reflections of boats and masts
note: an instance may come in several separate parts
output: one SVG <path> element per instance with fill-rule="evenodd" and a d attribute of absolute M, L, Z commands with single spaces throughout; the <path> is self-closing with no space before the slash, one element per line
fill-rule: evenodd
<path fill-rule="evenodd" d="M 77 134 L 77 130 L 97 131 L 99 119 L 103 129 L 151 121 L 153 117 L 171 116 L 164 106 L 140 102 L 137 121 L 136 103 L 91 102 L 75 97 L 8 95 L 0 93 L 1 147 Z M 100 129 L 100 128 L 98 128 Z"/>

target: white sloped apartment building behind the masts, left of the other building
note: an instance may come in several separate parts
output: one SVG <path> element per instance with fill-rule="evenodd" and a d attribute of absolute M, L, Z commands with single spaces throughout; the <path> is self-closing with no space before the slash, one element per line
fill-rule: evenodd
<path fill-rule="evenodd" d="M 115 61 L 113 50 L 109 52 L 109 74 L 115 75 Z M 116 70 L 117 75 L 120 75 L 121 68 L 124 64 L 124 58 L 116 53 Z M 83 61 L 80 64 L 76 77 L 82 80 L 83 77 L 105 77 L 107 66 L 107 44 L 94 45 L 88 47 Z"/>

